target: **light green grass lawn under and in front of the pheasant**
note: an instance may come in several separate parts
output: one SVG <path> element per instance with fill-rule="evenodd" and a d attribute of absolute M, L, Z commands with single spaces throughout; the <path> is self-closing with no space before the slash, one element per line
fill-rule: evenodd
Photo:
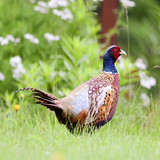
<path fill-rule="evenodd" d="M 138 110 L 120 100 L 115 116 L 100 131 L 73 135 L 47 109 L 21 105 L 17 113 L 11 109 L 0 112 L 0 159 L 160 158 L 157 111 L 151 117 L 147 109 Z"/>

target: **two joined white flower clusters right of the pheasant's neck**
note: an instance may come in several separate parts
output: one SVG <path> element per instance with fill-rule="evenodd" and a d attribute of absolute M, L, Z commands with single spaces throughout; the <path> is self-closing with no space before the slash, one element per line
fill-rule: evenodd
<path fill-rule="evenodd" d="M 156 79 L 153 77 L 147 76 L 143 70 L 147 68 L 147 65 L 143 62 L 142 59 L 138 58 L 135 62 L 135 65 L 139 68 L 139 77 L 141 86 L 151 89 L 152 86 L 156 85 Z"/>

